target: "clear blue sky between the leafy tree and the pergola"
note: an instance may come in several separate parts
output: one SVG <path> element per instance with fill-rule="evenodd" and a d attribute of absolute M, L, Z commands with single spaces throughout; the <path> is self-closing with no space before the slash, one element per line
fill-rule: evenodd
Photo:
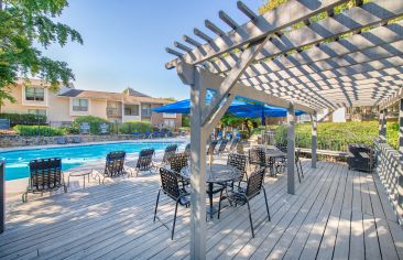
<path fill-rule="evenodd" d="M 258 11 L 262 0 L 244 3 Z M 235 0 L 69 0 L 57 20 L 79 31 L 84 45 L 52 45 L 44 55 L 69 64 L 76 88 L 121 91 L 130 86 L 154 97 L 188 98 L 188 87 L 164 67 L 173 57 L 165 47 L 183 34 L 194 35 L 195 26 L 214 36 L 205 19 L 228 30 L 219 10 L 238 23 L 247 21 Z"/>

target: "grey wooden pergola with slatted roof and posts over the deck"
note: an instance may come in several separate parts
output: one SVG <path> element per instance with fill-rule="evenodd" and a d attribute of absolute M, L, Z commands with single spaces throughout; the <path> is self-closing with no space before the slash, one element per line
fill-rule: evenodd
<path fill-rule="evenodd" d="M 384 110 L 403 97 L 403 1 L 357 0 L 357 7 L 335 13 L 335 7 L 345 2 L 288 0 L 262 15 L 238 2 L 247 23 L 238 24 L 220 11 L 228 30 L 206 20 L 214 37 L 195 29 L 197 39 L 184 35 L 185 43 L 166 48 L 176 56 L 166 68 L 176 67 L 182 82 L 190 86 L 193 259 L 205 258 L 207 139 L 237 95 L 287 109 L 290 162 L 295 153 L 295 109 L 312 117 L 313 167 L 318 110 L 379 106 L 384 137 Z M 324 12 L 327 18 L 312 22 Z M 208 105 L 207 89 L 216 90 Z M 402 121 L 402 112 L 400 117 Z M 293 163 L 287 164 L 287 192 L 295 192 Z"/>

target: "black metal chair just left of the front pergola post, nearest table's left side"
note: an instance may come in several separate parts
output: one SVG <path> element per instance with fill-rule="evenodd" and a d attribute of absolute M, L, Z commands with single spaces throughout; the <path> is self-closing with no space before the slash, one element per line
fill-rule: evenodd
<path fill-rule="evenodd" d="M 187 206 L 190 205 L 190 199 L 188 198 L 187 194 L 182 193 L 175 172 L 173 172 L 168 169 L 165 169 L 165 167 L 161 167 L 160 169 L 160 175 L 161 175 L 161 188 L 160 188 L 159 194 L 156 196 L 155 210 L 154 210 L 154 221 L 155 221 L 155 218 L 157 218 L 156 210 L 159 208 L 160 195 L 161 195 L 161 191 L 162 191 L 167 197 L 175 201 L 174 223 L 172 225 L 172 231 L 171 231 L 171 239 L 174 239 L 177 205 L 182 205 L 182 206 L 187 207 Z M 164 224 L 164 226 L 165 226 L 165 224 Z"/>

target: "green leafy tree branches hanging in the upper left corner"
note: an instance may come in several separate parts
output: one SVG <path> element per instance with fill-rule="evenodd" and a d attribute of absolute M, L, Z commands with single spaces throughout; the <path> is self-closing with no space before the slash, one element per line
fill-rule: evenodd
<path fill-rule="evenodd" d="M 56 89 L 59 82 L 67 85 L 74 74 L 67 63 L 42 55 L 35 45 L 53 43 L 64 46 L 67 41 L 83 44 L 80 34 L 52 19 L 62 14 L 67 0 L 0 0 L 0 105 L 14 98 L 8 87 L 19 77 L 39 77 Z"/>

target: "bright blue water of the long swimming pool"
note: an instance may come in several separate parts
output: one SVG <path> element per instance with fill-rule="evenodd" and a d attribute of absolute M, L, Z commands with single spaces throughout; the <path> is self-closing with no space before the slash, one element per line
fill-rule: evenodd
<path fill-rule="evenodd" d="M 28 177 L 30 174 L 28 165 L 34 159 L 61 158 L 63 170 L 68 170 L 84 163 L 105 159 L 108 152 L 111 151 L 126 151 L 129 154 L 140 152 L 144 148 L 154 148 L 157 151 L 164 150 L 166 145 L 173 143 L 182 144 L 181 142 L 119 142 L 18 150 L 0 152 L 0 160 L 6 160 L 6 181 L 11 181 Z"/>

